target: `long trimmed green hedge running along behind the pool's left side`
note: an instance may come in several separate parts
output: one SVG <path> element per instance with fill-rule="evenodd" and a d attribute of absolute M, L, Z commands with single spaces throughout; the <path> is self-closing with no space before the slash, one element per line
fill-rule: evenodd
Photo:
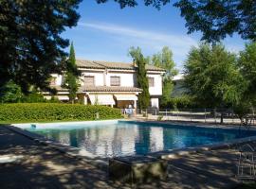
<path fill-rule="evenodd" d="M 15 103 L 0 105 L 0 122 L 48 122 L 121 118 L 119 109 L 105 106 L 57 103 Z"/>

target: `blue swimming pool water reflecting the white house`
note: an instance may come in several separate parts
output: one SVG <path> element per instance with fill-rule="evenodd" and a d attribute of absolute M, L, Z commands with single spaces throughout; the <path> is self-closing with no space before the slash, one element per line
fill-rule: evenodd
<path fill-rule="evenodd" d="M 92 123 L 92 122 L 91 122 Z M 207 129 L 138 122 L 70 123 L 64 126 L 29 128 L 63 144 L 76 146 L 92 156 L 116 157 L 147 154 L 166 149 L 227 142 L 256 135 L 256 131 Z"/>

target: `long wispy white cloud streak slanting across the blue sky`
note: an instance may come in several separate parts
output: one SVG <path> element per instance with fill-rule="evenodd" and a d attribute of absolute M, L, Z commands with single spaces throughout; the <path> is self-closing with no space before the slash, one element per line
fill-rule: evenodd
<path fill-rule="evenodd" d="M 112 25 L 108 23 L 79 23 L 79 26 L 95 29 L 104 33 L 115 34 L 112 38 L 125 46 L 140 46 L 143 52 L 153 54 L 163 46 L 169 46 L 174 53 L 174 60 L 183 61 L 192 45 L 197 41 L 188 35 L 162 33 L 158 31 L 139 29 L 135 27 Z"/>

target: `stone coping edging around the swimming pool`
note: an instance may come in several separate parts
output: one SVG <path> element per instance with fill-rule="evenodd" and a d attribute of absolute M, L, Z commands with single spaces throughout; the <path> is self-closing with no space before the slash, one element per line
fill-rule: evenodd
<path fill-rule="evenodd" d="M 157 123 L 157 124 L 163 124 L 163 125 L 177 125 L 177 123 L 168 123 L 168 122 L 159 122 L 159 121 L 144 121 L 144 120 L 141 121 L 141 120 L 124 120 L 124 119 L 121 119 L 119 121 Z M 70 122 L 69 122 L 69 124 L 70 124 Z M 190 126 L 190 127 L 206 128 L 206 127 L 204 127 L 203 124 L 200 126 L 194 126 L 193 124 L 186 123 L 186 124 L 178 124 L 178 125 L 182 126 L 182 127 Z M 95 165 L 97 167 L 105 169 L 108 167 L 108 160 L 114 159 L 114 158 L 84 156 L 77 152 L 77 151 L 79 151 L 78 147 L 68 146 L 68 145 L 61 144 L 60 142 L 57 142 L 54 140 L 46 139 L 46 137 L 36 134 L 36 133 L 33 133 L 33 132 L 30 132 L 26 129 L 21 129 L 21 128 L 10 126 L 10 125 L 4 125 L 4 127 L 12 130 L 15 133 L 21 134 L 21 135 L 29 138 L 30 140 L 35 141 L 38 144 L 41 144 L 44 146 L 49 146 L 55 150 L 58 150 L 61 153 L 64 153 L 65 155 L 67 155 L 69 157 L 72 157 L 72 158 L 75 158 L 75 159 L 81 161 L 82 163 L 90 163 L 92 165 Z M 219 128 L 219 129 L 237 129 L 233 126 L 226 126 L 226 125 L 225 126 L 208 125 L 208 127 L 212 128 L 212 129 L 217 129 L 217 128 Z M 256 130 L 256 129 L 253 129 L 253 130 Z M 132 159 L 132 157 L 134 159 L 134 157 L 137 156 L 137 157 L 144 157 L 145 159 L 147 159 L 147 157 L 148 158 L 154 157 L 155 159 L 159 159 L 159 160 L 172 160 L 172 159 L 178 158 L 179 156 L 182 156 L 182 155 L 188 155 L 188 154 L 192 154 L 192 153 L 200 153 L 200 152 L 210 151 L 210 150 L 237 147 L 239 145 L 244 145 L 244 144 L 247 144 L 252 141 L 256 141 L 256 136 L 249 136 L 249 137 L 244 137 L 244 138 L 240 138 L 240 139 L 234 139 L 234 140 L 230 140 L 229 142 L 221 142 L 221 143 L 213 144 L 213 145 L 202 145 L 202 146 L 193 146 L 193 147 L 177 148 L 177 149 L 170 149 L 170 150 L 162 150 L 162 151 L 148 153 L 146 155 L 134 155 L 134 156 L 130 156 L 130 157 L 131 157 L 131 159 Z M 127 156 L 127 158 L 128 157 L 129 156 Z M 115 159 L 119 159 L 119 157 L 116 157 Z"/>

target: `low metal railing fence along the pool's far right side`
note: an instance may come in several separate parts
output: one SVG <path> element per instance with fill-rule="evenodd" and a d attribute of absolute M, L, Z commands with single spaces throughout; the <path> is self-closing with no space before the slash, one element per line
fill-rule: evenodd
<path fill-rule="evenodd" d="M 203 122 L 212 124 L 241 124 L 241 119 L 227 109 L 146 109 L 137 110 L 137 118 L 158 121 Z M 244 125 L 255 125 L 253 111 L 243 119 Z"/>

